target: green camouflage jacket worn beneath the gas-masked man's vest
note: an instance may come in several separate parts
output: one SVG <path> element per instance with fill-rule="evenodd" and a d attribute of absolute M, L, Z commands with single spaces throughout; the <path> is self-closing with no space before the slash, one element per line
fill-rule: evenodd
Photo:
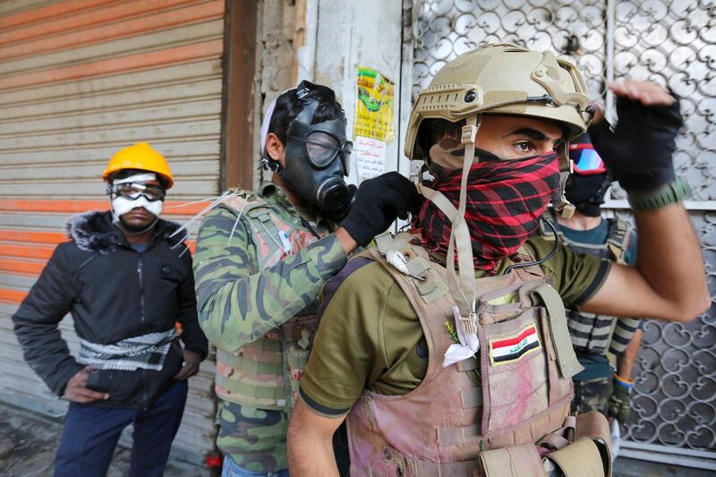
<path fill-rule="evenodd" d="M 255 194 L 277 217 L 308 230 L 277 185 L 264 183 Z M 275 250 L 268 255 L 277 252 L 280 260 L 260 269 L 261 251 L 251 240 L 251 226 L 241 210 L 225 204 L 210 211 L 200 226 L 194 255 L 199 321 L 219 352 L 235 353 L 243 346 L 268 342 L 267 334 L 295 315 L 314 310 L 322 285 L 347 260 L 336 236 L 319 225 L 314 230 L 323 238 L 287 255 L 280 244 L 269 244 Z M 286 413 L 232 399 L 220 404 L 217 421 L 217 445 L 240 467 L 260 473 L 286 468 Z"/>

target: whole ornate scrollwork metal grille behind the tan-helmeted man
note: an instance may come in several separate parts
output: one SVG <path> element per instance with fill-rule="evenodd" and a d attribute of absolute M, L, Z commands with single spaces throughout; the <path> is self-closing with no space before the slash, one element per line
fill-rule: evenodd
<path fill-rule="evenodd" d="M 603 98 L 608 106 L 606 81 L 624 76 L 657 81 L 678 93 L 686 127 L 678 136 L 676 166 L 695 191 L 688 207 L 716 294 L 712 2 L 415 0 L 412 37 L 413 99 L 448 60 L 497 41 L 551 49 L 571 58 L 585 73 L 592 98 Z M 624 198 L 624 192 L 614 188 L 608 205 L 622 209 Z M 694 450 L 716 450 L 716 306 L 687 325 L 649 321 L 635 381 L 635 412 L 623 429 L 625 439 L 692 456 Z M 714 456 L 700 456 L 704 454 Z"/>

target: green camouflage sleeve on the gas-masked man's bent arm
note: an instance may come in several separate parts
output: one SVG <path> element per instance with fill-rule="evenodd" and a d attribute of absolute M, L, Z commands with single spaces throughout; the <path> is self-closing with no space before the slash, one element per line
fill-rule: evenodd
<path fill-rule="evenodd" d="M 329 234 L 259 270 L 243 221 L 236 223 L 231 210 L 218 207 L 204 218 L 194 254 L 201 328 L 211 343 L 235 351 L 316 300 L 346 260 L 336 235 Z"/>

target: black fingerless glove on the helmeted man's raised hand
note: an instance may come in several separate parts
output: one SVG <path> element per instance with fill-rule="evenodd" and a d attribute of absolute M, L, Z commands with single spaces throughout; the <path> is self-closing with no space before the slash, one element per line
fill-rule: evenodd
<path fill-rule="evenodd" d="M 675 138 L 683 124 L 678 99 L 670 106 L 644 106 L 638 100 L 618 96 L 617 114 L 614 132 L 602 119 L 592 124 L 589 134 L 594 149 L 622 187 L 648 190 L 673 181 Z"/>

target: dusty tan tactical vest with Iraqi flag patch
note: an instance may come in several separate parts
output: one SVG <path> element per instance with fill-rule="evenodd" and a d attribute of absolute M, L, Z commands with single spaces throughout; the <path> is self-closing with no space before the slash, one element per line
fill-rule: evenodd
<path fill-rule="evenodd" d="M 541 268 L 476 280 L 479 359 L 443 368 L 453 344 L 446 323 L 456 326 L 447 271 L 409 239 L 398 234 L 361 255 L 388 270 L 416 311 L 428 370 L 403 396 L 363 391 L 346 418 L 351 474 L 532 476 L 558 467 L 568 477 L 609 475 L 610 459 L 600 454 L 609 455 L 606 419 L 584 414 L 575 430 L 568 416 L 572 380 L 561 360 L 575 356 L 561 298 Z M 407 274 L 385 260 L 386 250 L 404 254 Z"/>

